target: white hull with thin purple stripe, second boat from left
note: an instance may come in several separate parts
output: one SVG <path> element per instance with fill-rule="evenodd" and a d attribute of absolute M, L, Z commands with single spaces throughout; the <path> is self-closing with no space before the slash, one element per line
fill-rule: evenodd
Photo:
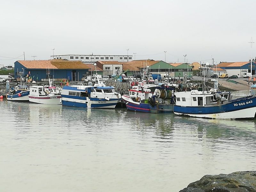
<path fill-rule="evenodd" d="M 61 96 L 28 96 L 29 102 L 47 104 L 47 105 L 60 105 L 61 104 Z"/>

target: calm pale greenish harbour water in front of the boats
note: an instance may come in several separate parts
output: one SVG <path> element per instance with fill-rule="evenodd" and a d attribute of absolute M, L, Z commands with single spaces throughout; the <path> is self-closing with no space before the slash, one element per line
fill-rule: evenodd
<path fill-rule="evenodd" d="M 0 100 L 0 191 L 179 191 L 256 169 L 255 121 Z"/>

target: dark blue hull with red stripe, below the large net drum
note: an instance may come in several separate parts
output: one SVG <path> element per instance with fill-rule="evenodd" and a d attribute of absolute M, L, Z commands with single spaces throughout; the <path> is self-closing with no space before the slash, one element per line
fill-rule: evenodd
<path fill-rule="evenodd" d="M 173 105 L 172 104 L 156 104 L 152 107 L 149 103 L 140 103 L 134 102 L 128 96 L 122 96 L 122 99 L 125 102 L 126 108 L 134 112 L 143 112 L 143 113 L 172 113 Z"/>

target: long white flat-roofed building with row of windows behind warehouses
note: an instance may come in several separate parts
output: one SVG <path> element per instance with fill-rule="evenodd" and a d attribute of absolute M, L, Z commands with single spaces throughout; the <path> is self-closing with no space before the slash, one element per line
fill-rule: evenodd
<path fill-rule="evenodd" d="M 94 63 L 96 61 L 132 61 L 132 55 L 52 55 L 51 59 L 66 59 L 71 61 L 82 61 L 83 63 Z"/>

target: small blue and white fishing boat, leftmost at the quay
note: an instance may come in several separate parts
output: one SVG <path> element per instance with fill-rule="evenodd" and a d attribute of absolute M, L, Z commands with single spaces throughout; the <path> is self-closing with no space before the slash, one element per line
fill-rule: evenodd
<path fill-rule="evenodd" d="M 6 99 L 10 101 L 28 101 L 29 87 L 27 85 L 17 85 L 14 89 L 10 89 L 6 94 Z"/>

